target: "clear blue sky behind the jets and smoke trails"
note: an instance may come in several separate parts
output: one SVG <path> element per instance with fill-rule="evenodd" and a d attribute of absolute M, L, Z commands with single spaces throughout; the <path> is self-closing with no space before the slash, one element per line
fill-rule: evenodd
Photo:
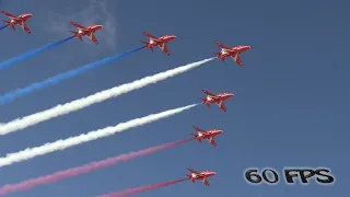
<path fill-rule="evenodd" d="M 346 193 L 349 166 L 350 94 L 347 1 L 45 1 L 3 0 L 13 14 L 31 12 L 32 35 L 5 28 L 0 60 L 69 36 L 69 21 L 101 23 L 100 45 L 72 39 L 0 72 L 0 92 L 78 68 L 140 46 L 142 31 L 155 36 L 174 34 L 171 56 L 148 49 L 90 71 L 73 80 L 0 106 L 0 123 L 59 103 L 80 99 L 212 56 L 221 42 L 250 45 L 242 55 L 244 67 L 228 59 L 212 61 L 188 73 L 117 99 L 38 124 L 0 138 L 0 152 L 15 152 L 47 141 L 198 102 L 200 89 L 232 92 L 228 112 L 205 106 L 151 125 L 131 129 L 61 152 L 0 169 L 0 185 L 82 165 L 164 142 L 185 139 L 191 126 L 224 131 L 218 147 L 189 142 L 130 162 L 75 176 L 13 197 L 96 196 L 145 184 L 182 178 L 186 167 L 211 170 L 211 187 L 189 182 L 138 196 L 340 196 Z M 2 16 L 4 19 L 4 16 Z M 252 186 L 243 179 L 246 167 L 328 166 L 334 186 Z"/>

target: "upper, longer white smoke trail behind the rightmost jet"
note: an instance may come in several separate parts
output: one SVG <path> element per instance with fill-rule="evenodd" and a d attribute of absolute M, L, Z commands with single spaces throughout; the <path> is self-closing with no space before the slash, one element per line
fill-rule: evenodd
<path fill-rule="evenodd" d="M 22 118 L 14 119 L 12 121 L 9 121 L 9 123 L 0 126 L 0 135 L 7 135 L 10 132 L 14 132 L 16 130 L 21 130 L 21 129 L 27 128 L 30 126 L 39 124 L 42 121 L 79 111 L 81 108 L 88 107 L 88 106 L 93 105 L 95 103 L 101 103 L 101 102 L 106 101 L 108 99 L 113 99 L 113 97 L 119 96 L 121 94 L 126 94 L 128 92 L 139 90 L 143 86 L 154 84 L 160 81 L 164 81 L 168 78 L 175 77 L 177 74 L 189 71 L 194 68 L 197 68 L 197 67 L 199 67 L 206 62 L 209 62 L 213 59 L 215 59 L 215 57 L 200 60 L 200 61 L 192 62 L 192 63 L 188 63 L 186 66 L 177 67 L 175 69 L 160 72 L 154 76 L 149 76 L 149 77 L 142 78 L 140 80 L 136 80 L 130 83 L 125 83 L 125 84 L 121 84 L 121 85 L 118 85 L 118 86 L 115 86 L 115 88 L 112 88 L 108 90 L 97 92 L 97 93 L 90 95 L 88 97 L 82 97 L 82 99 L 79 99 L 79 100 L 72 101 L 70 103 L 62 104 L 62 105 L 59 104 L 52 108 L 49 108 L 49 109 L 46 109 L 43 112 L 38 112 L 38 113 L 32 114 L 32 115 L 28 115 L 28 116 L 25 116 Z"/>

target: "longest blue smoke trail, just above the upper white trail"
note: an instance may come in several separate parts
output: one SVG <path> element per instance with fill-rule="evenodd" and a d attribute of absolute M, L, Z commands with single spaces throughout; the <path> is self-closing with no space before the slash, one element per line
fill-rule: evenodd
<path fill-rule="evenodd" d="M 126 53 L 122 53 L 122 54 L 118 54 L 116 56 L 112 56 L 112 57 L 107 57 L 105 59 L 102 59 L 100 61 L 95 61 L 93 63 L 89 63 L 89 65 L 85 65 L 83 67 L 80 67 L 78 69 L 74 69 L 74 70 L 70 70 L 68 72 L 65 72 L 65 73 L 60 73 L 58 76 L 55 76 L 52 78 L 49 78 L 45 81 L 42 81 L 42 82 L 37 82 L 37 83 L 33 83 L 24 89 L 18 89 L 13 92 L 9 92 L 4 95 L 2 95 L 0 97 L 0 104 L 5 104 L 5 103 L 9 103 L 9 102 L 12 102 L 14 101 L 15 99 L 20 97 L 20 96 L 24 96 L 26 94 L 31 94 L 32 92 L 35 92 L 37 90 L 40 90 L 40 89 L 44 89 L 44 88 L 47 88 L 47 86 L 50 86 L 50 85 L 54 85 L 54 84 L 57 84 L 66 79 L 71 79 L 71 78 L 74 78 L 79 74 L 82 74 L 89 70 L 92 70 L 92 69 L 95 69 L 95 68 L 98 68 L 101 66 L 104 66 L 108 62 L 112 62 L 112 61 L 115 61 L 117 59 L 120 59 L 125 56 L 128 56 L 130 54 L 133 54 L 142 48 L 144 48 L 145 46 L 142 46 L 140 48 L 137 48 L 137 49 L 132 49 L 132 50 L 129 50 L 129 51 L 126 51 Z"/>

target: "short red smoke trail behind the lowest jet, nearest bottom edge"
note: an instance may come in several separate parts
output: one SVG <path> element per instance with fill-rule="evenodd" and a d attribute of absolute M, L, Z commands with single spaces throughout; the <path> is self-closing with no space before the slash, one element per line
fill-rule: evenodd
<path fill-rule="evenodd" d="M 136 188 L 121 190 L 119 193 L 101 195 L 101 196 L 97 196 L 97 197 L 121 197 L 121 196 L 132 195 L 132 194 L 136 194 L 136 193 L 143 193 L 143 192 L 147 192 L 147 190 L 156 189 L 156 188 L 160 188 L 160 187 L 166 187 L 166 186 L 170 186 L 170 185 L 174 185 L 174 184 L 184 182 L 186 179 L 188 179 L 188 178 L 183 178 L 183 179 L 177 179 L 177 181 L 172 181 L 172 182 L 164 182 L 164 183 L 154 184 L 154 185 L 145 185 L 145 186 L 141 186 L 141 187 L 136 187 Z"/>

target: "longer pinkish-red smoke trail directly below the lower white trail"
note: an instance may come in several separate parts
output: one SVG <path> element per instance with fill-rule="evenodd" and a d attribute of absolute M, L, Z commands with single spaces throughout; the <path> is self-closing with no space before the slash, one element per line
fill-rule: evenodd
<path fill-rule="evenodd" d="M 56 172 L 54 174 L 49 174 L 46 176 L 26 179 L 26 181 L 23 181 L 18 184 L 4 185 L 0 188 L 0 196 L 7 195 L 9 193 L 15 193 L 19 190 L 31 189 L 31 188 L 39 186 L 39 185 L 49 184 L 49 183 L 57 182 L 57 181 L 65 179 L 65 178 L 69 178 L 72 176 L 78 176 L 80 174 L 90 173 L 92 171 L 96 171 L 102 167 L 110 166 L 110 165 L 114 165 L 119 162 L 129 161 L 129 160 L 132 160 L 132 159 L 136 159 L 139 157 L 144 157 L 144 155 L 148 155 L 148 154 L 151 154 L 151 153 L 164 150 L 164 149 L 168 149 L 168 148 L 188 142 L 190 140 L 192 140 L 192 139 L 186 139 L 186 140 L 164 143 L 164 144 L 161 144 L 158 147 L 143 149 L 143 150 L 140 150 L 137 152 L 130 152 L 128 154 L 121 154 L 121 155 L 118 155 L 115 158 L 108 158 L 106 160 L 91 162 L 89 164 L 78 166 L 78 167 L 68 169 L 66 171 L 59 171 L 59 172 Z"/>

